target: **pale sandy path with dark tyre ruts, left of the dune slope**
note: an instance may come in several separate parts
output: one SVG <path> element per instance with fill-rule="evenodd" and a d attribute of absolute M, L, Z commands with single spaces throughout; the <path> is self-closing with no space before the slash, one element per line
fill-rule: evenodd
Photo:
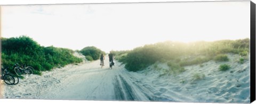
<path fill-rule="evenodd" d="M 132 80 L 119 62 L 113 69 L 100 68 L 100 61 L 68 65 L 42 76 L 26 75 L 17 85 L 5 85 L 3 98 L 67 100 L 148 100 L 133 91 Z M 2 83 L 4 85 L 4 83 Z"/>

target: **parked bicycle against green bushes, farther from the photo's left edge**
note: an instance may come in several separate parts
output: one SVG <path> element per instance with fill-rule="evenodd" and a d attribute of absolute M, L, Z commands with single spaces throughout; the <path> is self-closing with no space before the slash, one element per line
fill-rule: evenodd
<path fill-rule="evenodd" d="M 21 76 L 22 74 L 33 74 L 34 68 L 27 65 L 19 65 L 19 63 L 14 64 L 15 74 Z"/>

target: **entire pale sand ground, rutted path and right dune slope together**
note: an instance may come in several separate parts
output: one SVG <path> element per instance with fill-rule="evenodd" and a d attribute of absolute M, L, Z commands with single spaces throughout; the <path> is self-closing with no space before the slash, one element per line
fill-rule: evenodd
<path fill-rule="evenodd" d="M 250 61 L 240 64 L 238 55 L 231 54 L 229 59 L 189 66 L 176 76 L 161 76 L 168 68 L 165 63 L 157 65 L 161 70 L 150 66 L 134 73 L 118 62 L 113 69 L 101 69 L 97 60 L 46 71 L 42 76 L 27 75 L 17 85 L 1 86 L 3 98 L 249 103 Z M 231 69 L 218 71 L 221 63 L 228 63 Z M 205 77 L 195 80 L 194 73 Z"/>

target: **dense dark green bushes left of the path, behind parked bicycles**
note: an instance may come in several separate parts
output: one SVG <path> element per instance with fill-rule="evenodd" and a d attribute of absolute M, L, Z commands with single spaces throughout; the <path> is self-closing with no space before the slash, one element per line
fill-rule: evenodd
<path fill-rule="evenodd" d="M 2 37 L 1 41 L 1 64 L 4 68 L 8 67 L 12 73 L 14 73 L 15 63 L 32 66 L 35 69 L 34 74 L 41 75 L 41 71 L 82 62 L 82 59 L 73 55 L 73 50 L 53 46 L 44 47 L 27 36 Z"/>

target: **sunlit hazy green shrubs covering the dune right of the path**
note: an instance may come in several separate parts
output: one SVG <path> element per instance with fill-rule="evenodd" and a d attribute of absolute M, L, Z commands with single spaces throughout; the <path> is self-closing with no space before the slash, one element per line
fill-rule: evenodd
<path fill-rule="evenodd" d="M 137 47 L 131 51 L 113 51 L 116 59 L 125 64 L 129 71 L 143 70 L 155 62 L 167 62 L 175 72 L 185 71 L 183 67 L 200 65 L 214 60 L 216 62 L 229 61 L 227 54 L 239 54 L 241 57 L 249 54 L 250 39 L 221 40 L 215 42 L 161 42 Z M 243 58 L 239 60 L 243 63 Z M 227 70 L 228 67 L 220 70 Z"/>

